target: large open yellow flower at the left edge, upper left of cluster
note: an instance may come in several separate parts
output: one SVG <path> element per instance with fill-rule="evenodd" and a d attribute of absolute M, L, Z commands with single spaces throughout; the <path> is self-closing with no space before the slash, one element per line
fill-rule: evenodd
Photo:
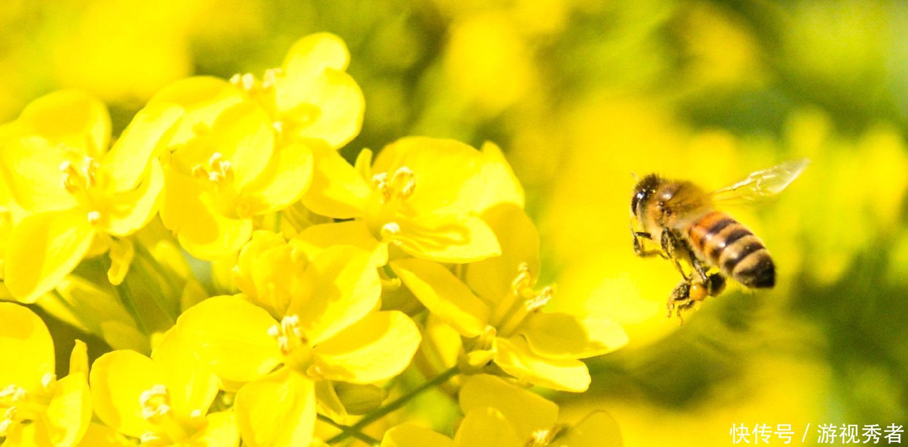
<path fill-rule="evenodd" d="M 25 108 L 3 141 L 0 170 L 24 210 L 6 247 L 5 284 L 32 302 L 71 272 L 92 247 L 106 249 L 152 219 L 163 188 L 156 141 L 181 115 L 170 104 L 136 114 L 113 148 L 104 104 L 76 91 L 50 93 Z M 125 271 L 115 272 L 122 279 Z"/>

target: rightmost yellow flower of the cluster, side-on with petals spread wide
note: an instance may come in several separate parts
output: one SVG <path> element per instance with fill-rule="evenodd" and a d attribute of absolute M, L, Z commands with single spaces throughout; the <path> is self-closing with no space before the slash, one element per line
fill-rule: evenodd
<path fill-rule="evenodd" d="M 489 209 L 484 218 L 503 254 L 467 266 L 466 284 L 448 268 L 423 259 L 399 259 L 390 267 L 430 312 L 467 338 L 469 366 L 484 370 L 494 361 L 529 384 L 586 391 L 589 373 L 577 359 L 613 351 L 627 343 L 627 335 L 605 318 L 541 312 L 554 289 L 534 288 L 539 271 L 536 228 L 513 205 Z"/>

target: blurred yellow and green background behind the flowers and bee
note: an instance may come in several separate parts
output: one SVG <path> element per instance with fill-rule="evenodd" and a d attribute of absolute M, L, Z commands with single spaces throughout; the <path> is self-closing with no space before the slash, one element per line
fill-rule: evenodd
<path fill-rule="evenodd" d="M 793 443 L 810 423 L 810 445 L 821 423 L 908 422 L 908 4 L 5 0 L 0 121 L 77 87 L 116 134 L 163 85 L 261 73 L 317 31 L 349 44 L 366 97 L 345 156 L 404 135 L 497 142 L 528 191 L 550 306 L 626 327 L 626 348 L 588 362 L 587 394 L 549 395 L 563 419 L 605 409 L 628 446 L 727 445 L 741 423 L 791 423 Z M 778 286 L 666 319 L 678 277 L 633 254 L 631 172 L 715 189 L 799 157 L 813 162 L 779 199 L 727 209 L 764 238 Z"/>

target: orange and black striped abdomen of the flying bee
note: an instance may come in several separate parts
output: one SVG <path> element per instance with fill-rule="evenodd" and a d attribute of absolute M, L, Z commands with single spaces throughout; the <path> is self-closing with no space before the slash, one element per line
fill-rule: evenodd
<path fill-rule="evenodd" d="M 775 265 L 760 238 L 719 211 L 700 218 L 688 230 L 691 244 L 706 262 L 746 287 L 775 286 Z"/>

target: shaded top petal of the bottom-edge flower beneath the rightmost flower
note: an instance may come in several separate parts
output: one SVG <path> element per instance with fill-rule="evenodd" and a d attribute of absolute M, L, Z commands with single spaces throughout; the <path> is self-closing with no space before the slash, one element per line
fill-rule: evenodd
<path fill-rule="evenodd" d="M 458 395 L 460 410 L 492 407 L 508 420 L 520 439 L 537 430 L 551 429 L 558 419 L 558 405 L 525 388 L 487 374 L 471 376 Z"/>

